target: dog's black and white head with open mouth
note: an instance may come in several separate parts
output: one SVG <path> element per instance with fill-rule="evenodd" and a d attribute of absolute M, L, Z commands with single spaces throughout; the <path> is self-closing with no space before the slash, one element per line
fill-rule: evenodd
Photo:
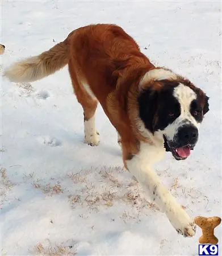
<path fill-rule="evenodd" d="M 198 141 L 198 130 L 209 110 L 206 94 L 189 80 L 167 69 L 153 69 L 140 83 L 139 115 L 153 135 L 164 137 L 166 151 L 186 159 Z"/>

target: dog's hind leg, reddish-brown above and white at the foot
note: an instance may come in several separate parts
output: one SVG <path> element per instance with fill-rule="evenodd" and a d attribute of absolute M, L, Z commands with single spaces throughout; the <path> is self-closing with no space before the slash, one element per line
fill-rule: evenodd
<path fill-rule="evenodd" d="M 85 143 L 90 146 L 97 146 L 99 144 L 99 133 L 95 129 L 95 110 L 97 109 L 98 100 L 94 97 L 89 86 L 79 81 L 70 65 L 69 73 L 72 79 L 74 93 L 83 108 Z"/>

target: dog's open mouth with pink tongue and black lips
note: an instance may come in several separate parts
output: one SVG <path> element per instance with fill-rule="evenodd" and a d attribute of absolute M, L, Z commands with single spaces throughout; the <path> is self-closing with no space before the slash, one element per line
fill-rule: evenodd
<path fill-rule="evenodd" d="M 185 160 L 190 155 L 190 151 L 194 149 L 195 145 L 187 144 L 182 147 L 170 146 L 170 143 L 164 136 L 164 146 L 166 148 L 166 151 L 170 151 L 175 159 Z"/>

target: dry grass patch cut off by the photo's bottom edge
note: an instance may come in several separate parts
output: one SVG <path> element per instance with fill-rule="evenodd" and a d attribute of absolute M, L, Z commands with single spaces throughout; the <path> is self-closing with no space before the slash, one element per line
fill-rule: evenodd
<path fill-rule="evenodd" d="M 43 246 L 42 243 L 37 243 L 37 245 L 32 250 L 35 255 L 42 256 L 64 256 L 64 255 L 76 255 L 76 250 L 73 246 L 65 246 L 64 243 L 52 245 L 49 242 L 48 246 Z"/>

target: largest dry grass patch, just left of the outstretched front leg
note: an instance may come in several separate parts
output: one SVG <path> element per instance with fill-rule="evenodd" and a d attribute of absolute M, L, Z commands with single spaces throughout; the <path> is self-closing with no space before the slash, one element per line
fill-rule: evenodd
<path fill-rule="evenodd" d="M 120 181 L 118 173 L 124 172 L 122 167 L 102 167 L 100 170 L 81 171 L 77 174 L 69 174 L 74 183 L 82 183 L 73 195 L 68 196 L 72 208 L 77 205 L 86 205 L 90 209 L 99 210 L 100 207 L 112 207 L 115 203 L 126 203 L 129 207 L 159 210 L 156 204 L 150 203 L 145 195 L 140 192 L 140 186 L 136 180 Z M 87 183 L 94 174 L 95 182 Z M 141 196 L 142 195 L 142 196 Z"/>

